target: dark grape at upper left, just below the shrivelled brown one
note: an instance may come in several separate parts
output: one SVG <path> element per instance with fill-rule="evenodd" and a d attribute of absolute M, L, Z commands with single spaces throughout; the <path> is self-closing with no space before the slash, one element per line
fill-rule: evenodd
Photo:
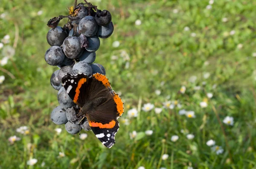
<path fill-rule="evenodd" d="M 47 42 L 50 46 L 61 46 L 67 37 L 67 32 L 60 26 L 52 28 L 47 33 Z"/>

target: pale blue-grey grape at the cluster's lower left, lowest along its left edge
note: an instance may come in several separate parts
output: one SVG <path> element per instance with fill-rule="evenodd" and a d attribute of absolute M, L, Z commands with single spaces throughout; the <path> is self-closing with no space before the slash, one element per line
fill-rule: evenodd
<path fill-rule="evenodd" d="M 52 122 L 55 124 L 67 123 L 66 109 L 63 106 L 57 106 L 51 113 Z"/>

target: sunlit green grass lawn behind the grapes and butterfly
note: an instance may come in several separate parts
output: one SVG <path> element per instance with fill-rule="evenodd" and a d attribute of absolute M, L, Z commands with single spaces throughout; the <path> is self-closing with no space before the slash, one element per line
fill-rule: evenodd
<path fill-rule="evenodd" d="M 52 17 L 67 14 L 73 1 L 2 0 L 0 14 L 6 13 L 6 17 L 0 19 L 0 39 L 10 35 L 4 48 L 14 46 L 15 55 L 0 67 L 0 75 L 6 77 L 0 84 L 0 169 L 39 169 L 42 162 L 46 169 L 256 169 L 256 58 L 252 57 L 256 52 L 256 1 L 216 0 L 210 10 L 206 9 L 208 0 L 91 2 L 111 11 L 115 25 L 113 35 L 101 40 L 95 63 L 105 67 L 113 89 L 122 92 L 125 113 L 119 118 L 116 144 L 111 149 L 103 147 L 91 131 L 80 140 L 49 117 L 58 106 L 57 91 L 49 83 L 58 68 L 44 60 L 49 48 L 46 24 Z M 40 10 L 43 14 L 38 16 Z M 222 22 L 223 17 L 228 21 Z M 142 21 L 140 26 L 134 24 L 137 19 Z M 190 28 L 187 32 L 183 30 L 186 26 Z M 236 33 L 229 35 L 232 30 Z M 116 40 L 120 46 L 113 48 Z M 4 57 L 2 51 L 0 58 Z M 123 60 L 122 52 L 130 60 Z M 118 59 L 111 60 L 113 55 Z M 210 73 L 208 79 L 204 72 Z M 191 76 L 197 77 L 195 83 L 189 82 Z M 181 86 L 186 86 L 185 94 L 178 93 Z M 195 91 L 195 86 L 201 90 Z M 161 90 L 159 96 L 154 92 L 157 89 Z M 213 97 L 201 108 L 206 92 Z M 196 117 L 179 115 L 178 108 L 163 109 L 160 114 L 154 109 L 141 110 L 144 103 L 162 107 L 166 100 L 178 100 L 181 109 L 195 111 Z M 128 118 L 131 108 L 137 108 L 139 115 L 126 126 L 122 119 Z M 226 116 L 234 117 L 233 126 L 222 123 Z M 28 126 L 29 134 L 17 133 L 20 126 Z M 62 129 L 60 135 L 55 128 Z M 143 134 L 148 129 L 153 135 Z M 181 129 L 195 138 L 188 140 Z M 132 131 L 137 131 L 135 139 L 130 139 Z M 8 138 L 13 135 L 21 140 L 11 145 Z M 179 139 L 172 142 L 172 135 Z M 211 151 L 206 145 L 210 139 L 222 146 L 223 154 Z M 31 149 L 28 143 L 32 143 Z M 65 157 L 59 158 L 59 152 Z M 161 160 L 163 154 L 169 158 Z M 27 166 L 29 158 L 38 162 Z"/>

